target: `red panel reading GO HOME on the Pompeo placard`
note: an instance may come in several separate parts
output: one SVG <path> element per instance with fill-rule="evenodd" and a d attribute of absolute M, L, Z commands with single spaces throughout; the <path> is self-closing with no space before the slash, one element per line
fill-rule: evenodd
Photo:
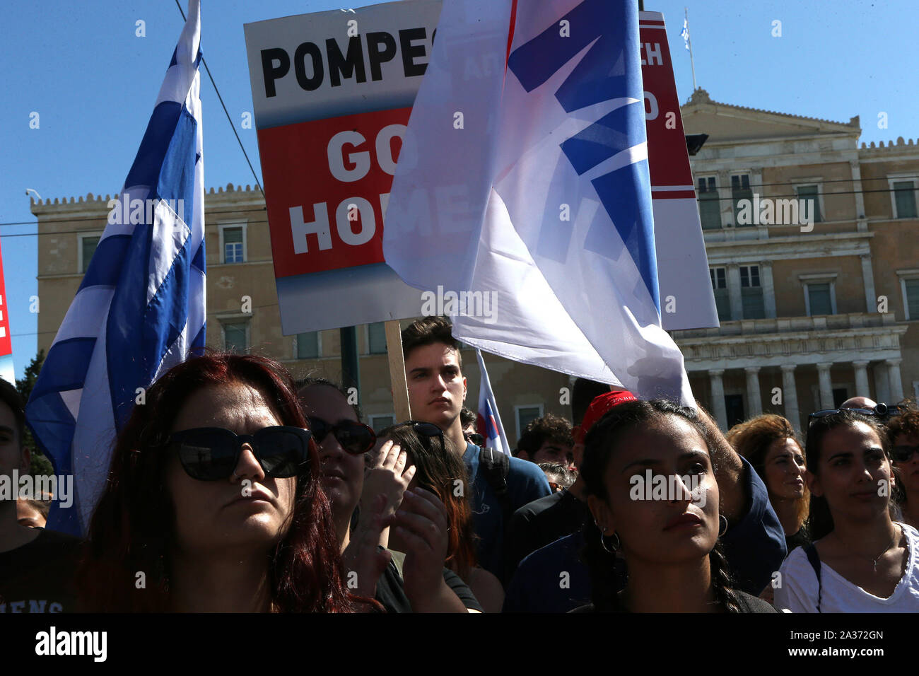
<path fill-rule="evenodd" d="M 383 212 L 411 112 L 258 132 L 276 277 L 383 262 Z"/>

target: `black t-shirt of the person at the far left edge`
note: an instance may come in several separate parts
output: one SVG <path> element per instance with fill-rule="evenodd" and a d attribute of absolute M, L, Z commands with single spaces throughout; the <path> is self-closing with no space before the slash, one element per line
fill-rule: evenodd
<path fill-rule="evenodd" d="M 73 613 L 80 540 L 37 529 L 37 538 L 0 552 L 0 613 Z"/>

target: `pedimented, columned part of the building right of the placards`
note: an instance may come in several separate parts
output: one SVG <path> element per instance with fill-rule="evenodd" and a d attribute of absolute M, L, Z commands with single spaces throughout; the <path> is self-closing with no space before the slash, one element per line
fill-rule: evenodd
<path fill-rule="evenodd" d="M 915 396 L 919 146 L 859 147 L 858 118 L 742 108 L 703 89 L 682 113 L 686 133 L 709 134 L 691 165 L 721 321 L 675 332 L 697 396 L 722 426 L 763 411 L 800 426 L 850 396 Z M 751 219 L 744 201 L 775 208 Z"/>

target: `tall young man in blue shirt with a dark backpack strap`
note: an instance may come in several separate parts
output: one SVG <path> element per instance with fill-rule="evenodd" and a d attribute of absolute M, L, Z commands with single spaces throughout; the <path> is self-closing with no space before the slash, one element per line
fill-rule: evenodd
<path fill-rule="evenodd" d="M 509 458 L 506 496 L 499 498 L 480 463 L 481 449 L 463 437 L 459 412 L 466 399 L 466 378 L 449 322 L 443 317 L 424 317 L 405 327 L 402 339 L 412 418 L 437 425 L 462 453 L 472 486 L 469 498 L 479 536 L 479 565 L 503 579 L 505 521 L 517 508 L 550 495 L 549 481 L 537 465 Z"/>

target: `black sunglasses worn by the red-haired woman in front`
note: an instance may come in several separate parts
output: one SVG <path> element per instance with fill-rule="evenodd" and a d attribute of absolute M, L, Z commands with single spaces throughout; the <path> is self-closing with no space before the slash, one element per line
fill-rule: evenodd
<path fill-rule="evenodd" d="M 182 430 L 169 437 L 186 474 L 199 481 L 217 481 L 235 473 L 243 444 L 252 445 L 255 459 L 266 476 L 283 479 L 296 476 L 309 457 L 310 430 L 297 427 L 267 427 L 255 434 L 234 434 L 223 428 Z"/>

